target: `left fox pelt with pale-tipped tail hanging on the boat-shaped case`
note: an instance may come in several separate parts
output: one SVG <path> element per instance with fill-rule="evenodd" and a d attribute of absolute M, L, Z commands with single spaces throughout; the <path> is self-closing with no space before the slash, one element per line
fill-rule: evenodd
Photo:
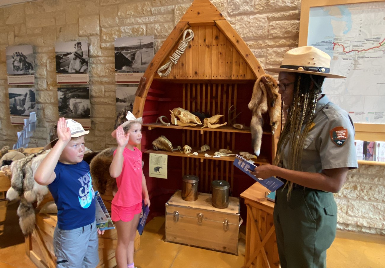
<path fill-rule="evenodd" d="M 263 118 L 262 115 L 267 111 L 267 93 L 261 79 L 259 77 L 254 84 L 253 94 L 249 102 L 249 109 L 253 112 L 251 117 L 250 129 L 251 129 L 251 140 L 253 142 L 254 153 L 259 156 L 261 152 L 262 143 L 262 126 Z"/>

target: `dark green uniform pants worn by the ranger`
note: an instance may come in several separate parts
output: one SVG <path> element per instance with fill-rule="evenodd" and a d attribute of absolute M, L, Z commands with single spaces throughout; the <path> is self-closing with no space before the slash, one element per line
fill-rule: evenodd
<path fill-rule="evenodd" d="M 281 268 L 326 267 L 326 249 L 333 242 L 337 206 L 333 194 L 288 187 L 276 191 L 274 224 Z"/>

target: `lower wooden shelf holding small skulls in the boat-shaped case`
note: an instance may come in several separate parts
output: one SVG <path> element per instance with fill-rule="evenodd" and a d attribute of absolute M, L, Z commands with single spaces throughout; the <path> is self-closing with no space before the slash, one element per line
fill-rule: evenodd
<path fill-rule="evenodd" d="M 189 153 L 189 154 L 192 154 L 193 152 L 198 152 L 198 150 L 199 150 L 198 148 L 192 148 L 191 153 Z M 205 160 L 205 159 L 207 159 L 207 160 L 219 160 L 219 161 L 234 162 L 235 155 L 233 155 L 233 156 L 223 156 L 223 157 L 220 157 L 220 158 L 204 157 L 205 153 L 208 153 L 209 155 L 214 156 L 215 152 L 216 152 L 215 150 L 208 150 L 208 151 L 206 151 L 204 153 L 198 152 L 198 155 L 186 155 L 184 153 L 179 152 L 179 150 L 174 151 L 172 153 L 171 152 L 167 152 L 167 151 L 147 150 L 144 153 L 159 153 L 161 155 L 171 155 L 171 156 L 177 156 L 177 157 L 199 158 L 199 159 L 201 159 L 201 162 L 203 162 L 203 160 Z M 239 151 L 235 151 L 235 152 L 233 151 L 233 153 L 239 153 Z M 269 160 L 266 157 L 263 157 L 263 156 L 259 156 L 258 159 L 252 159 L 252 160 L 255 163 L 259 164 L 259 165 L 269 164 Z"/>

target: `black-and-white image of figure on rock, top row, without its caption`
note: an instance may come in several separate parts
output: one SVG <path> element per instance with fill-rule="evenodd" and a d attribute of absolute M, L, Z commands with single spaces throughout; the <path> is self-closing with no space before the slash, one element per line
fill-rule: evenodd
<path fill-rule="evenodd" d="M 57 73 L 87 73 L 87 41 L 61 42 L 55 46 Z"/>

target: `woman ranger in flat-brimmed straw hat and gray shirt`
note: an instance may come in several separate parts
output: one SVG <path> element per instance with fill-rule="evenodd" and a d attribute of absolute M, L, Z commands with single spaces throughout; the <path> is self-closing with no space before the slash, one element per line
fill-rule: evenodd
<path fill-rule="evenodd" d="M 330 74 L 330 56 L 315 47 L 286 52 L 279 72 L 279 93 L 286 123 L 277 145 L 275 165 L 252 174 L 279 176 L 274 224 L 282 268 L 326 267 L 326 249 L 335 238 L 337 207 L 333 194 L 358 167 L 354 126 L 348 113 L 331 103 L 321 86 Z"/>

